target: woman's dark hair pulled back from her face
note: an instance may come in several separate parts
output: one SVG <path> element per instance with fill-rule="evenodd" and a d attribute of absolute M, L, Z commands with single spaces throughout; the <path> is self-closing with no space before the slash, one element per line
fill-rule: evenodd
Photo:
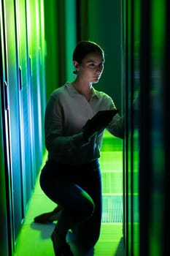
<path fill-rule="evenodd" d="M 82 59 L 89 53 L 99 53 L 104 57 L 104 50 L 96 42 L 81 41 L 74 49 L 73 61 L 81 63 Z"/>

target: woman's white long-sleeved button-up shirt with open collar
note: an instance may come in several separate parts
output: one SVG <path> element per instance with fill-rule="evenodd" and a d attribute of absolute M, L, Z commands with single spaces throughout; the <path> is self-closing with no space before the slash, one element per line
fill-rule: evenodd
<path fill-rule="evenodd" d="M 99 110 L 116 109 L 112 98 L 92 87 L 90 101 L 71 83 L 53 91 L 45 111 L 45 145 L 48 158 L 69 165 L 80 165 L 100 157 L 104 130 L 85 142 L 82 127 Z M 116 114 L 106 128 L 123 138 L 123 117 Z"/>

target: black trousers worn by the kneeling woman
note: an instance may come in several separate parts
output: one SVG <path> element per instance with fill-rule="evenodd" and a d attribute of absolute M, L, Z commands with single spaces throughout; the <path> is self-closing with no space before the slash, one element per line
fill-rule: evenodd
<path fill-rule="evenodd" d="M 47 160 L 40 176 L 47 197 L 63 206 L 57 233 L 72 230 L 79 244 L 90 248 L 101 229 L 101 169 L 98 159 L 85 165 L 65 165 Z"/>

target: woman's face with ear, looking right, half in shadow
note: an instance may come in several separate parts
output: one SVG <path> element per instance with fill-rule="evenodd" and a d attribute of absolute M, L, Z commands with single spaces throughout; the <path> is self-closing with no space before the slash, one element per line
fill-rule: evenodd
<path fill-rule="evenodd" d="M 88 83 L 98 83 L 104 69 L 104 56 L 99 53 L 89 53 L 79 64 L 74 61 L 78 76 Z"/>

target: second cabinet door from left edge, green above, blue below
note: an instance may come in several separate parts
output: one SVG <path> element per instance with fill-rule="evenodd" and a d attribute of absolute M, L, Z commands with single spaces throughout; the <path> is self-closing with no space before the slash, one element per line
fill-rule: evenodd
<path fill-rule="evenodd" d="M 3 30 L 4 30 L 4 72 L 6 81 L 3 81 L 5 96 L 8 98 L 8 107 L 4 106 L 5 129 L 7 135 L 7 162 L 9 171 L 9 202 L 11 202 L 10 217 L 12 219 L 13 243 L 18 236 L 23 219 L 22 187 L 21 187 L 21 159 L 20 159 L 20 118 L 17 77 L 17 53 L 15 37 L 15 8 L 13 1 L 2 1 Z M 6 102 L 7 103 L 7 102 Z M 8 108 L 8 109 L 7 109 Z"/>

